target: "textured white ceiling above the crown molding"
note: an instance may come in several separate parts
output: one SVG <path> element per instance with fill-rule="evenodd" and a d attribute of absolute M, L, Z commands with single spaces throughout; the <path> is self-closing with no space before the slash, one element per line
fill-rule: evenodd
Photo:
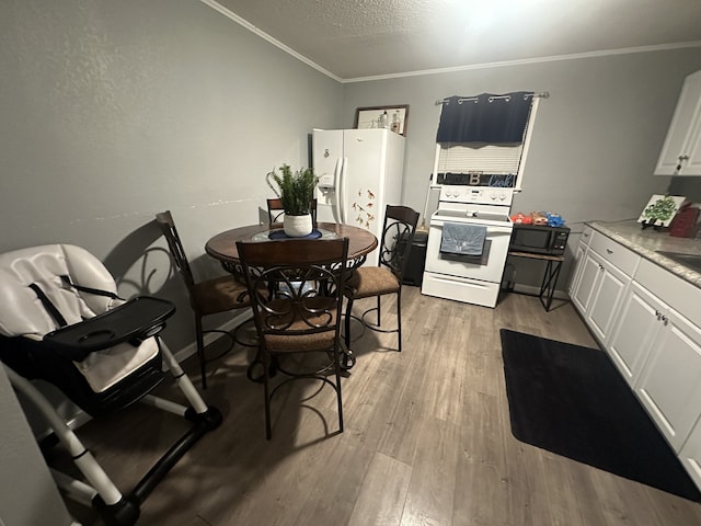
<path fill-rule="evenodd" d="M 345 80 L 645 46 L 701 46 L 701 0 L 217 2 Z"/>

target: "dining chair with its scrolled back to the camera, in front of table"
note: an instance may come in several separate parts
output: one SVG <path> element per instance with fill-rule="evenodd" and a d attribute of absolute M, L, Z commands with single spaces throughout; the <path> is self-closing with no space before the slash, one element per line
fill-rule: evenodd
<path fill-rule="evenodd" d="M 272 436 L 271 399 L 281 386 L 300 378 L 321 380 L 335 390 L 338 432 L 343 432 L 341 319 L 348 238 L 240 241 L 237 248 L 263 363 L 265 436 Z M 297 361 L 290 368 L 285 361 L 308 353 L 321 353 L 325 365 L 304 368 L 304 362 Z M 271 389 L 273 363 L 283 379 Z"/>

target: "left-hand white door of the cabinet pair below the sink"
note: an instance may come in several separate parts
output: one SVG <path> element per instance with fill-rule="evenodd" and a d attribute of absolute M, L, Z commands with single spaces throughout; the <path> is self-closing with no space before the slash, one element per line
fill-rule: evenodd
<path fill-rule="evenodd" d="M 655 336 L 662 329 L 660 316 L 667 306 L 637 283 L 632 283 L 621 305 L 609 355 L 632 386 L 637 381 Z"/>

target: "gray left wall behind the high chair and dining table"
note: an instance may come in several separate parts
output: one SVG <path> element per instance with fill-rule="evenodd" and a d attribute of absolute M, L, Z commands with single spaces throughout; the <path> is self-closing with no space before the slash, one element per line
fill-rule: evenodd
<path fill-rule="evenodd" d="M 153 215 L 173 211 L 197 277 L 221 274 L 205 242 L 257 219 L 275 165 L 309 163 L 341 84 L 197 0 L 4 1 L 0 35 L 0 251 L 83 245 L 123 295 L 175 299 L 182 348 L 192 315 Z"/>

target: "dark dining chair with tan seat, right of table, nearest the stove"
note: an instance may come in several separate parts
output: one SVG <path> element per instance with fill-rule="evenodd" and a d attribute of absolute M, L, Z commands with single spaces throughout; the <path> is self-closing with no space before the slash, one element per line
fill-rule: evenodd
<path fill-rule="evenodd" d="M 418 213 L 407 206 L 387 205 L 384 226 L 380 241 L 377 266 L 360 266 L 348 279 L 345 296 L 345 343 L 350 348 L 350 313 L 356 300 L 377 297 L 377 306 L 366 310 L 360 319 L 368 329 L 379 332 L 397 332 L 399 351 L 402 351 L 402 278 L 409 262 L 409 253 L 414 241 L 414 232 L 418 222 Z M 380 319 L 381 297 L 397 295 L 397 328 L 382 329 Z M 369 322 L 366 317 L 377 310 L 377 323 Z"/>

